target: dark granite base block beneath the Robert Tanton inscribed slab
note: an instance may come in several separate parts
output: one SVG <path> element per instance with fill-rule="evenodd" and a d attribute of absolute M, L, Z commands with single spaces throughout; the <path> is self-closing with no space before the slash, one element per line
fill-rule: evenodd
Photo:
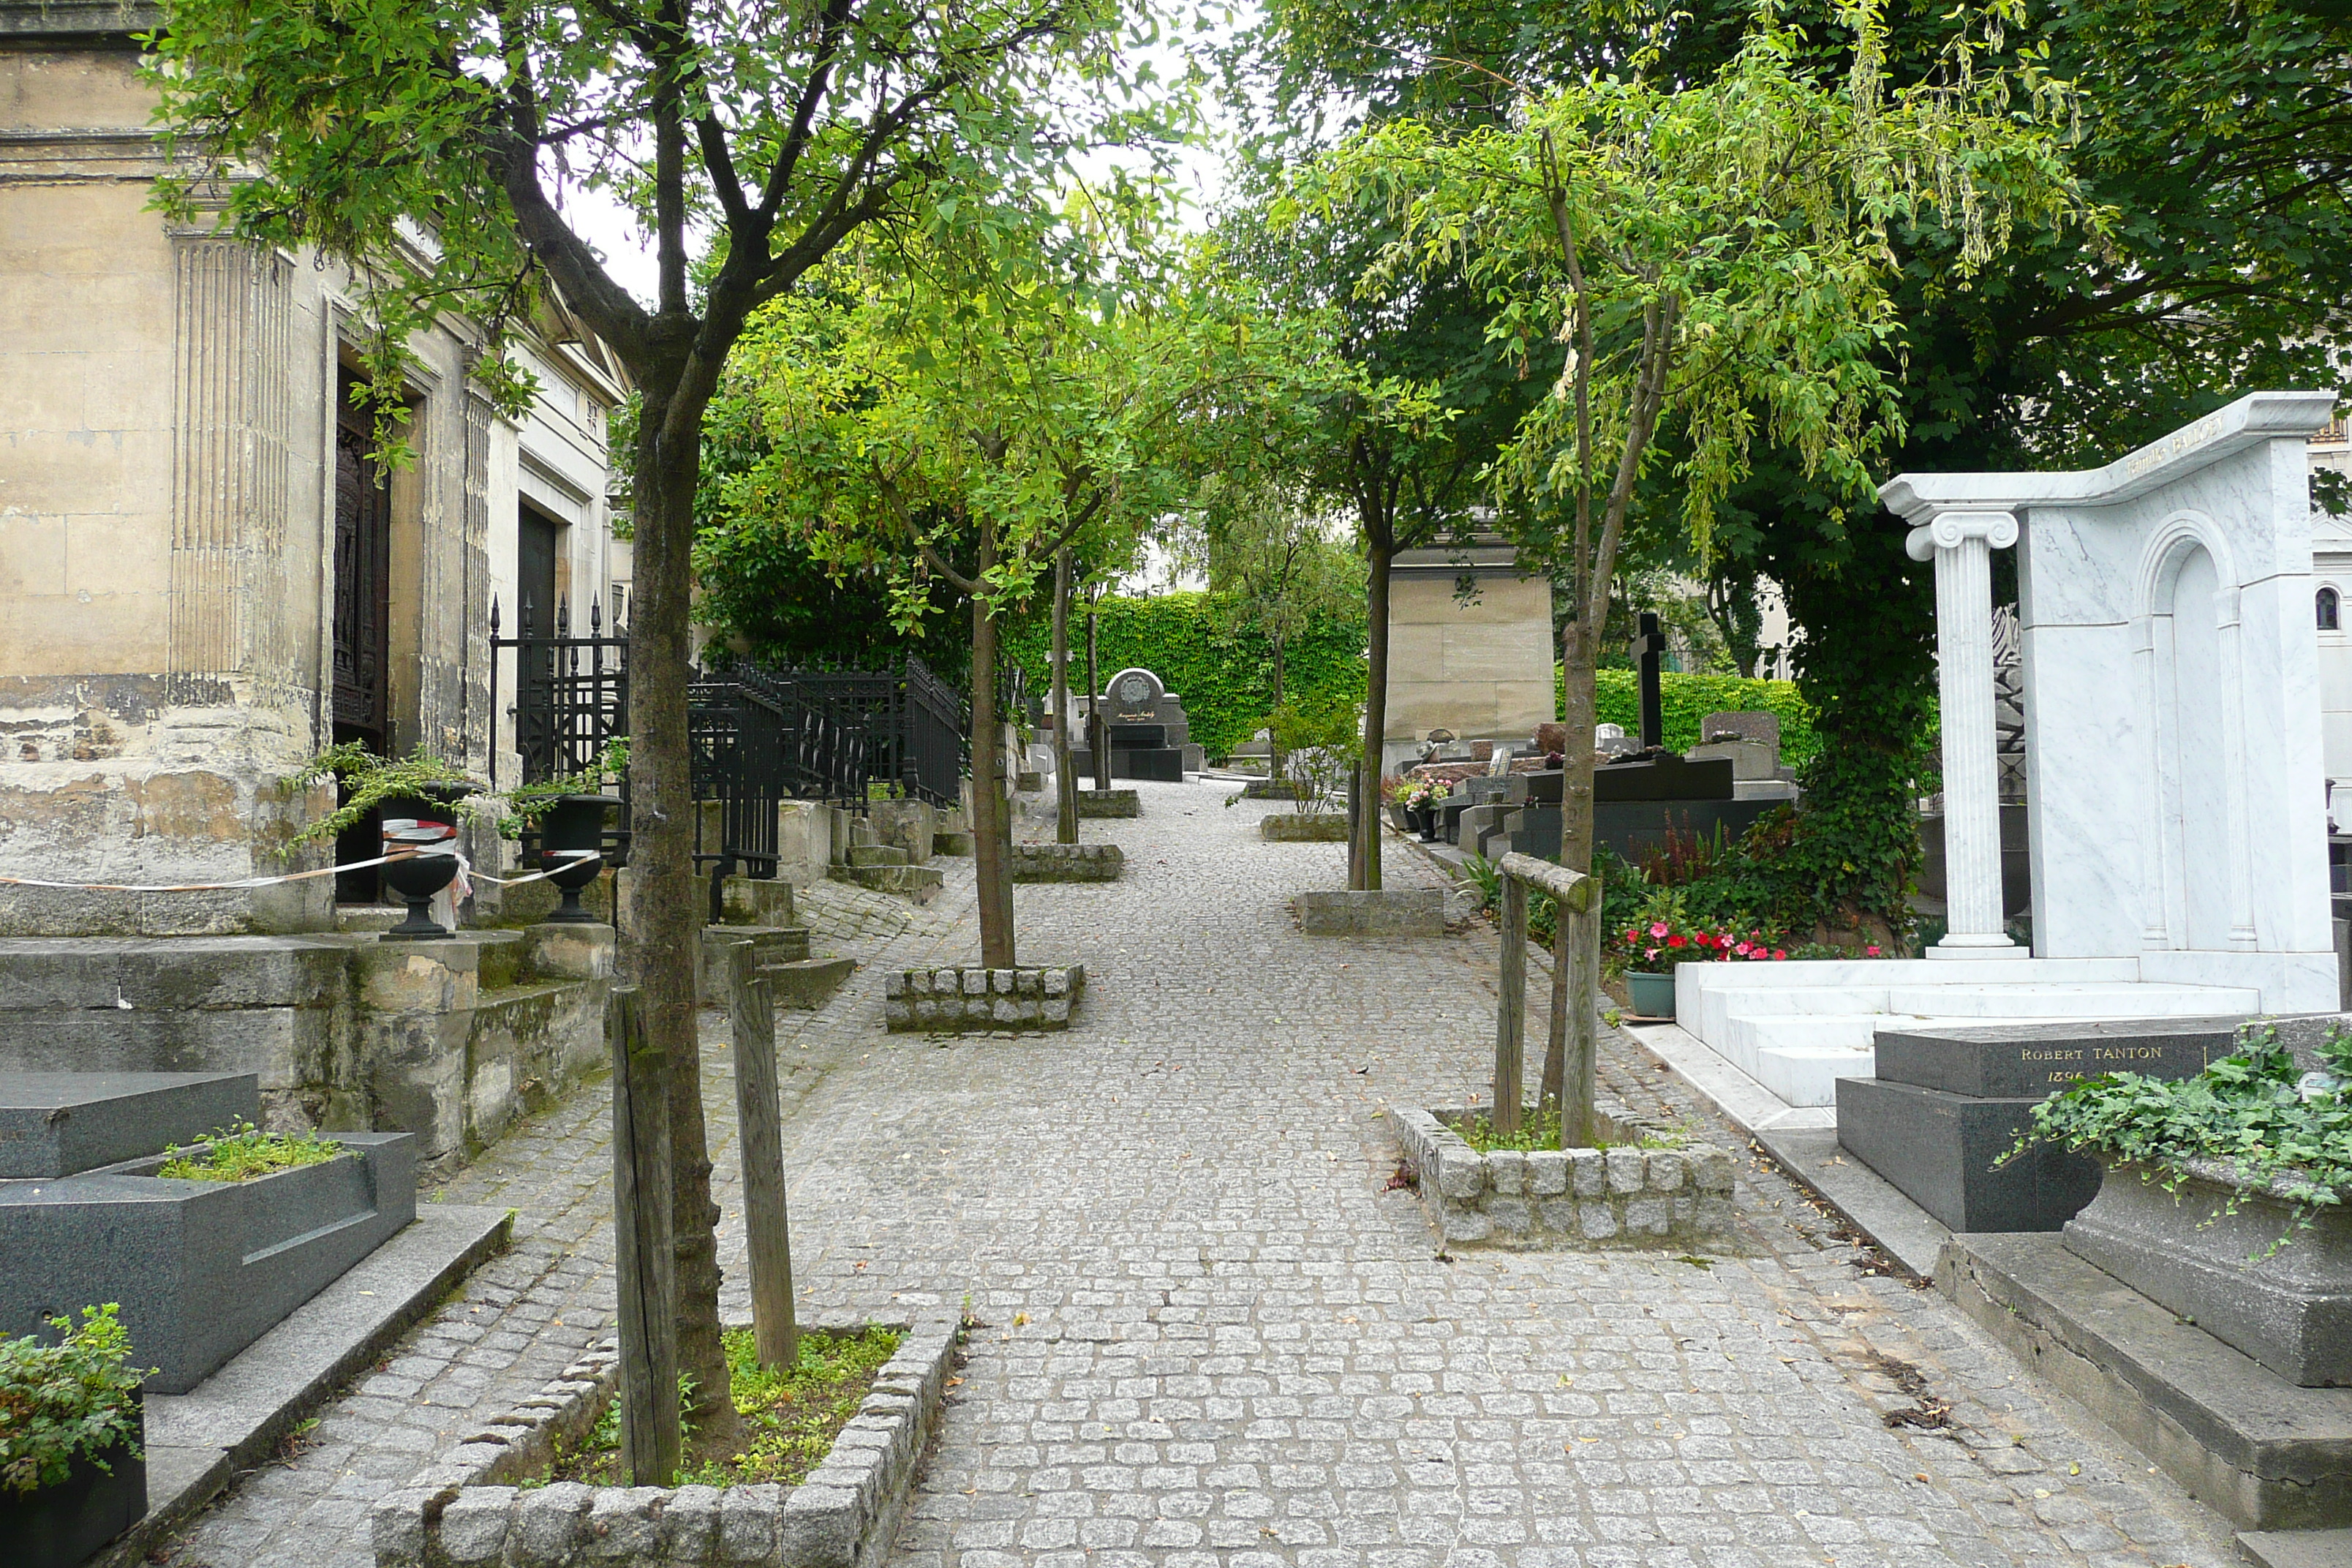
<path fill-rule="evenodd" d="M 1837 1079 L 1837 1140 L 1950 1229 L 2058 1229 L 2098 1197 L 2098 1161 L 2037 1143 L 2002 1166 L 2037 1103 Z"/>

